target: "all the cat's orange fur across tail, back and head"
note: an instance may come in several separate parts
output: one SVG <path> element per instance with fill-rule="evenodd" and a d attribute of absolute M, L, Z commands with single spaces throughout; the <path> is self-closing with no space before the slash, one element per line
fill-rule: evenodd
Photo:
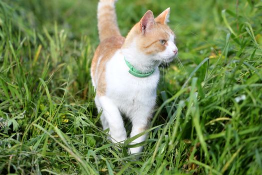
<path fill-rule="evenodd" d="M 159 40 L 167 41 L 170 34 L 173 34 L 173 31 L 166 25 L 170 10 L 168 8 L 155 19 L 153 12 L 147 11 L 125 39 L 121 36 L 117 26 L 114 2 L 115 0 L 100 0 L 98 5 L 98 31 L 101 43 L 92 60 L 91 76 L 99 96 L 105 95 L 106 92 L 106 63 L 118 49 L 129 47 L 136 39 L 136 44 L 141 52 L 148 55 L 155 54 L 166 49 L 167 44 L 161 44 Z"/>

